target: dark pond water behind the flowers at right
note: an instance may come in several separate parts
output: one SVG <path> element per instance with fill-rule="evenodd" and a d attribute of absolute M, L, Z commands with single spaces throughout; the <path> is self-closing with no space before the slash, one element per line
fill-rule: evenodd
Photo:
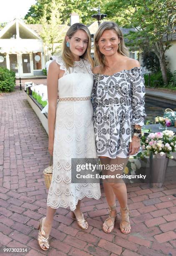
<path fill-rule="evenodd" d="M 171 103 L 165 102 L 164 99 L 162 101 L 155 100 L 150 97 L 145 97 L 145 109 L 146 109 L 146 118 L 145 123 L 147 120 L 154 121 L 154 118 L 158 116 L 163 116 L 165 109 L 171 108 L 172 110 L 176 111 L 176 104 L 173 105 Z"/>

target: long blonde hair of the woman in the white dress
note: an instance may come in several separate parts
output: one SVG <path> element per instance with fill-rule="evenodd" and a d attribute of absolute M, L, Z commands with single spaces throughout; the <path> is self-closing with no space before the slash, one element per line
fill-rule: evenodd
<path fill-rule="evenodd" d="M 85 31 L 85 33 L 88 36 L 88 47 L 87 47 L 85 53 L 82 56 L 80 56 L 80 58 L 88 60 L 93 67 L 93 59 L 91 58 L 91 33 L 88 30 L 88 28 L 82 23 L 74 23 L 68 29 L 68 31 L 65 35 L 65 38 L 63 40 L 63 47 L 62 47 L 63 61 L 65 62 L 65 65 L 67 68 L 73 67 L 74 58 L 73 58 L 72 52 L 70 51 L 70 47 L 66 46 L 66 43 L 67 43 L 66 36 L 68 36 L 69 38 L 72 38 L 72 36 L 75 34 L 76 31 L 78 31 L 78 29 Z"/>

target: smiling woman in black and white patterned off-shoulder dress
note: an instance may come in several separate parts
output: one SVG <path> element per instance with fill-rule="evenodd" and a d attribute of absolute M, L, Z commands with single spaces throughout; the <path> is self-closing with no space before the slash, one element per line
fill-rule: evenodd
<path fill-rule="evenodd" d="M 122 174 L 129 155 L 140 148 L 141 126 L 144 124 L 144 79 L 140 64 L 128 57 L 123 35 L 114 22 L 103 22 L 94 36 L 94 85 L 92 103 L 97 154 L 101 164 L 121 166 Z M 107 172 L 106 174 L 114 174 Z M 109 218 L 103 230 L 110 233 L 116 219 L 116 198 L 121 206 L 122 233 L 130 233 L 126 184 L 122 179 L 103 182 L 109 205 Z"/>

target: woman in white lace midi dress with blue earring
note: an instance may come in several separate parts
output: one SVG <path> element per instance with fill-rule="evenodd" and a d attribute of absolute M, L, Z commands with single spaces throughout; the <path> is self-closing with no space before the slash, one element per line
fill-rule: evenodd
<path fill-rule="evenodd" d="M 97 158 L 90 53 L 90 32 L 83 24 L 75 23 L 66 33 L 62 56 L 50 64 L 48 71 L 48 148 L 53 155 L 53 177 L 47 215 L 40 220 L 38 233 L 38 243 L 43 250 L 49 248 L 49 233 L 58 207 L 70 207 L 80 228 L 87 229 L 80 200 L 101 197 L 99 183 L 71 183 L 71 159 Z"/>

